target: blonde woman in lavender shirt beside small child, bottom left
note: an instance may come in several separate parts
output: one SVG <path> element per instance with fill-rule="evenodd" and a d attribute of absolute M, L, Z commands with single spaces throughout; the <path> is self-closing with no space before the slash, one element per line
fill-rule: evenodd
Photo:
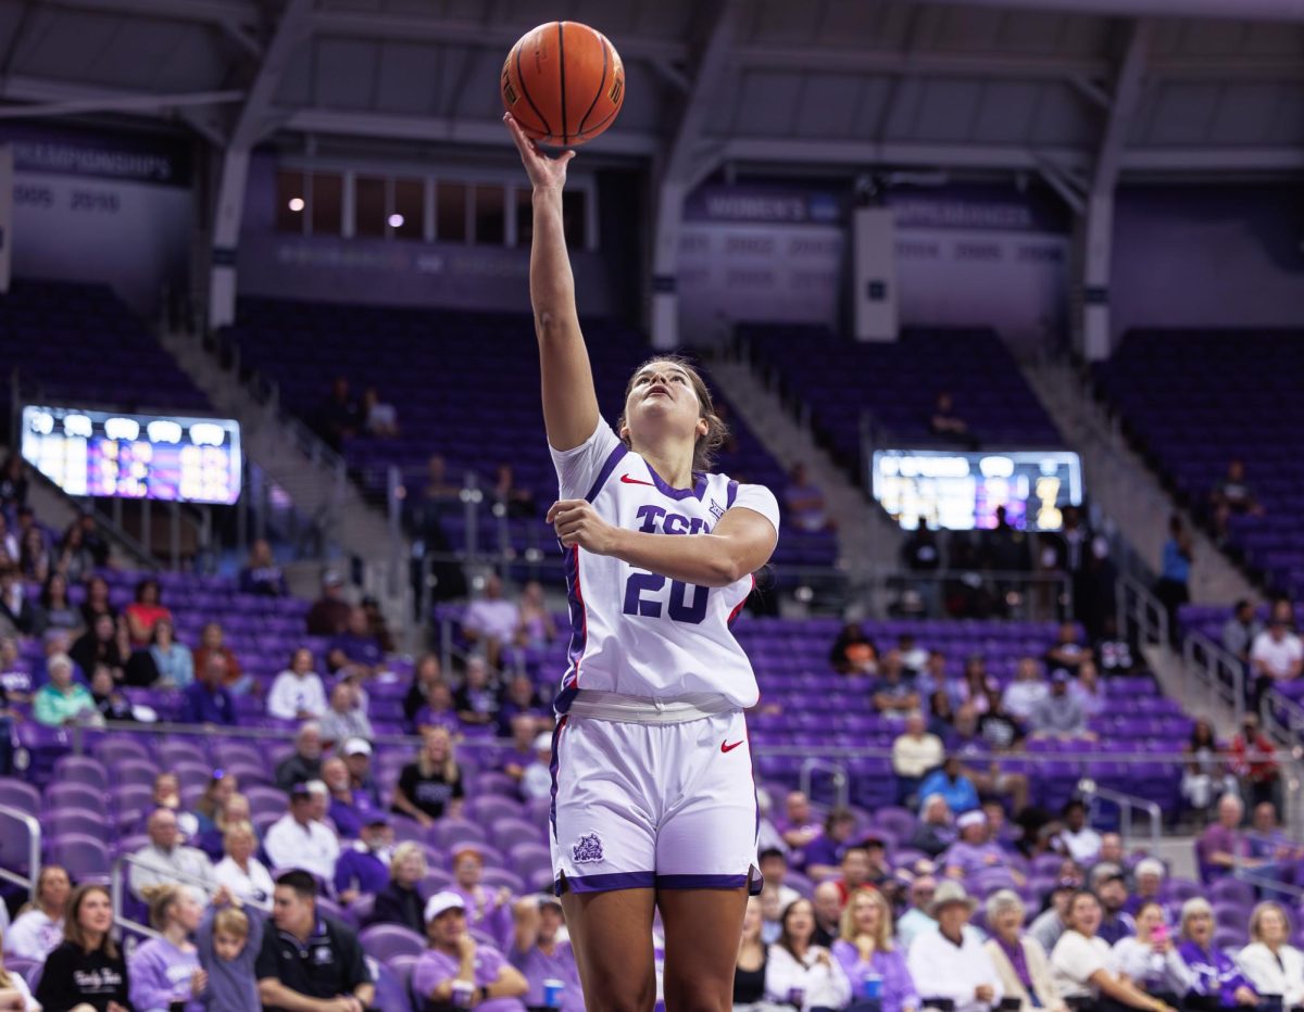
<path fill-rule="evenodd" d="M 150 927 L 160 936 L 138 946 L 126 963 L 132 1004 L 141 1012 L 188 1005 L 209 987 L 200 951 L 190 942 L 203 904 L 189 886 L 155 886 L 149 901 Z"/>

